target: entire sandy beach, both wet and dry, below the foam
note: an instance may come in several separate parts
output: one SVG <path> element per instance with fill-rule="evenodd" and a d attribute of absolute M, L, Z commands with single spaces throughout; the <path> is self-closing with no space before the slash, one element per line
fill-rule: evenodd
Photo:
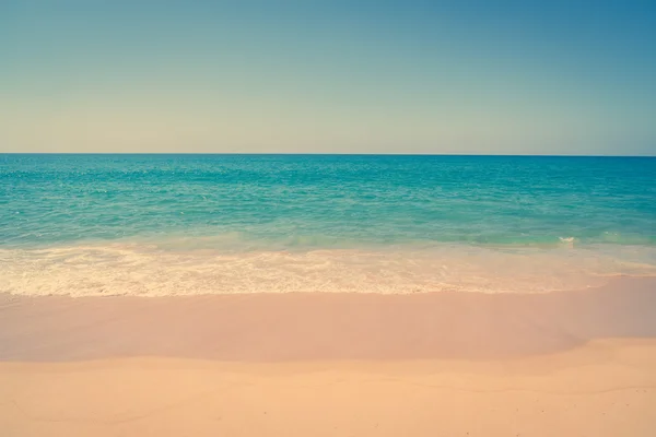
<path fill-rule="evenodd" d="M 0 296 L 3 436 L 652 436 L 656 282 Z"/>

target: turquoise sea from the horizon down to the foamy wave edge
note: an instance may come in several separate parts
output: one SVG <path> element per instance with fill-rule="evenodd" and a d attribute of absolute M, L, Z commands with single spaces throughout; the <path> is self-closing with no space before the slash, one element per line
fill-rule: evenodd
<path fill-rule="evenodd" d="M 0 155 L 0 292 L 539 293 L 656 276 L 656 158 Z"/>

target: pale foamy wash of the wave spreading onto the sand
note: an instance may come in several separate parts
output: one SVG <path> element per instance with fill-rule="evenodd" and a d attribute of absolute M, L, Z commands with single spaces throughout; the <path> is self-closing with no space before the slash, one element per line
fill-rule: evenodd
<path fill-rule="evenodd" d="M 462 291 L 541 293 L 656 275 L 653 248 L 163 250 L 144 244 L 0 250 L 0 291 L 24 295 Z"/>

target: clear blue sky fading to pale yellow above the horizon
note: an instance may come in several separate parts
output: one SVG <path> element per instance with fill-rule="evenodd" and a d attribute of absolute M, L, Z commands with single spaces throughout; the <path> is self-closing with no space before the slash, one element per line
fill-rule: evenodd
<path fill-rule="evenodd" d="M 0 153 L 656 155 L 654 1 L 0 0 Z"/>

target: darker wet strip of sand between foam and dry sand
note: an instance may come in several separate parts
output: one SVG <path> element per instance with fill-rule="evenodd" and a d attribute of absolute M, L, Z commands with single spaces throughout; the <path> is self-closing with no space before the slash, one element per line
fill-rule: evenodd
<path fill-rule="evenodd" d="M 508 359 L 656 338 L 656 280 L 544 294 L 0 295 L 0 362 Z"/>

